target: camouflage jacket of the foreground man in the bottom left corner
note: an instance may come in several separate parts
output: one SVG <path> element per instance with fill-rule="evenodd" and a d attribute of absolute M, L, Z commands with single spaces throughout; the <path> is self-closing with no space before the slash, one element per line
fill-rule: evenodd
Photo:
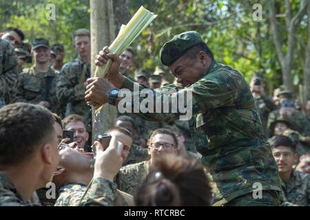
<path fill-rule="evenodd" d="M 23 201 L 10 179 L 0 173 L 0 206 L 41 206 L 41 204 Z"/>

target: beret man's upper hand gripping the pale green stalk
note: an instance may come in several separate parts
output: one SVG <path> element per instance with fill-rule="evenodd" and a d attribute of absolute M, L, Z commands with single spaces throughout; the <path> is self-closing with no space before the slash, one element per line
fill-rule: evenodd
<path fill-rule="evenodd" d="M 110 53 L 109 47 L 103 47 L 103 50 L 101 50 L 99 54 L 96 55 L 95 65 L 105 65 L 109 59 L 111 59 L 112 65 L 105 77 L 107 80 L 113 80 L 114 78 L 118 77 L 121 58 L 119 58 L 117 54 Z"/>

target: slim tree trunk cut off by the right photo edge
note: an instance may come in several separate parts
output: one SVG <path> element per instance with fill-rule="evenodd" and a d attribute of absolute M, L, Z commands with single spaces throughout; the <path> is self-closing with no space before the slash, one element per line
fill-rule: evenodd
<path fill-rule="evenodd" d="M 308 13 L 308 41 L 304 61 L 304 86 L 303 86 L 303 101 L 304 103 L 310 99 L 310 4 L 307 7 Z"/>

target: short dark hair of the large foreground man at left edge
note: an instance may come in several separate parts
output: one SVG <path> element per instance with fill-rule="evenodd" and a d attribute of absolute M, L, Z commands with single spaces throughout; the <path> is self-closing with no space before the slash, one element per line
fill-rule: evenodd
<path fill-rule="evenodd" d="M 0 109 L 0 164 L 28 159 L 54 135 L 54 117 L 37 104 L 17 102 Z"/>

